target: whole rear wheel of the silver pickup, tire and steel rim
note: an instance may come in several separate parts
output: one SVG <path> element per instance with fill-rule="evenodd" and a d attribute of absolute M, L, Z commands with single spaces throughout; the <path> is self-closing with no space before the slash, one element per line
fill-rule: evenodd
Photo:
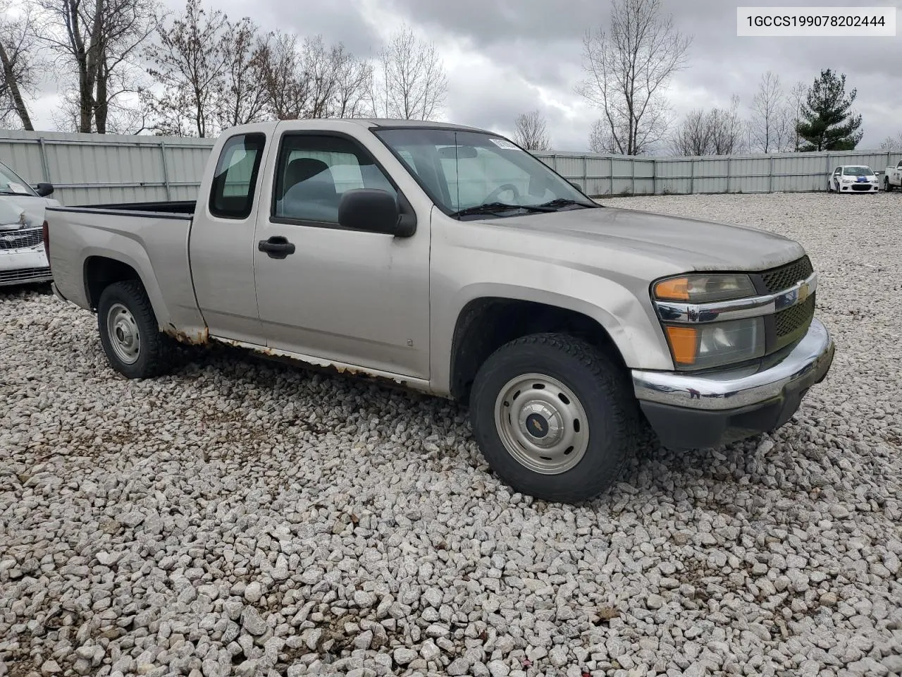
<path fill-rule="evenodd" d="M 97 302 L 97 328 L 106 359 L 128 378 L 166 373 L 174 341 L 162 334 L 141 283 L 110 284 Z"/>

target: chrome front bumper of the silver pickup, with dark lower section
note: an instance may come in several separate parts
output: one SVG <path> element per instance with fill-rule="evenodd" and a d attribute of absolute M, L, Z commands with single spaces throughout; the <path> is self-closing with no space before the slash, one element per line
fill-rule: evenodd
<path fill-rule="evenodd" d="M 824 380 L 833 350 L 830 332 L 815 319 L 796 347 L 768 368 L 697 375 L 633 370 L 632 383 L 661 444 L 716 447 L 789 421 L 808 388 Z"/>

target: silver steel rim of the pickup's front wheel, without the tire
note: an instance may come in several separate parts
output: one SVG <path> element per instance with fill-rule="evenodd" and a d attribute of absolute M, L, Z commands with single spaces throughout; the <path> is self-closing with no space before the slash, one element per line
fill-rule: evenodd
<path fill-rule="evenodd" d="M 511 378 L 495 399 L 495 428 L 521 466 L 559 475 L 580 462 L 589 446 L 583 404 L 557 378 L 524 374 Z"/>

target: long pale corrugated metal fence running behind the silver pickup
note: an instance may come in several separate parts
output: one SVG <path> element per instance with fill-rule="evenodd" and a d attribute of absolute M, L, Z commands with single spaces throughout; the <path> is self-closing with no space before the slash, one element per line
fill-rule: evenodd
<path fill-rule="evenodd" d="M 213 139 L 0 130 L 0 160 L 68 205 L 194 199 Z M 902 153 L 847 151 L 629 157 L 535 153 L 590 195 L 826 190 L 838 164 L 895 166 Z"/>

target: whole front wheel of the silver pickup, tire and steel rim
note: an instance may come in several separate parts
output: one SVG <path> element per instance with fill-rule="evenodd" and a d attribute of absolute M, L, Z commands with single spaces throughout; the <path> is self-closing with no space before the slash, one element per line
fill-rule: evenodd
<path fill-rule="evenodd" d="M 622 369 L 564 334 L 533 334 L 498 348 L 476 374 L 470 419 L 504 482 L 565 503 L 610 487 L 640 437 L 638 405 Z"/>

